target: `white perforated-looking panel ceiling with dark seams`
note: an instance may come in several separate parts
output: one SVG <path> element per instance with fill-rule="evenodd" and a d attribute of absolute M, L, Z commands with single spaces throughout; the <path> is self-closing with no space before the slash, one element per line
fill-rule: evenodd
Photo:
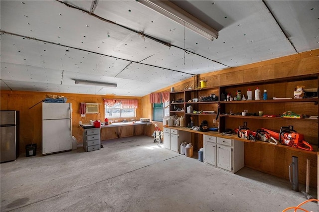
<path fill-rule="evenodd" d="M 141 97 L 196 74 L 319 49 L 318 0 L 173 1 L 218 30 L 213 41 L 136 0 L 98 0 L 90 14 L 93 2 L 0 0 L 1 90 Z"/>

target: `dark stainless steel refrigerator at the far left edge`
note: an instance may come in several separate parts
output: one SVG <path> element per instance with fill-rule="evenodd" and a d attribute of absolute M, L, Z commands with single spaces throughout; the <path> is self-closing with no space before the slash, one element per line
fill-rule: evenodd
<path fill-rule="evenodd" d="M 19 111 L 0 111 L 1 163 L 19 156 Z"/>

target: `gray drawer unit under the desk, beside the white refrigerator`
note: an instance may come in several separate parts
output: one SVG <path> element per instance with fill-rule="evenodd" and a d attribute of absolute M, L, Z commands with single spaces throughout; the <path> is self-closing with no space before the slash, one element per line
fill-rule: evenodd
<path fill-rule="evenodd" d="M 101 149 L 101 128 L 84 129 L 83 148 L 86 152 Z"/>

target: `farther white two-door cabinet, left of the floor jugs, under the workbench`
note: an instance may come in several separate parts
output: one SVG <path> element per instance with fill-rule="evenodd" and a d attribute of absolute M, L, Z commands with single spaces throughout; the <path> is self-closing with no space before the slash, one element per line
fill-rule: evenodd
<path fill-rule="evenodd" d="M 184 141 L 190 143 L 190 132 L 164 127 L 165 148 L 179 152 L 180 144 Z"/>

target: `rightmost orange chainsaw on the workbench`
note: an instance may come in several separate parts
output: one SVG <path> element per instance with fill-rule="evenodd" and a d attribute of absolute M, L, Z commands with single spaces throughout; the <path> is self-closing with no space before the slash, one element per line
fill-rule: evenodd
<path fill-rule="evenodd" d="M 313 146 L 304 140 L 304 135 L 294 130 L 294 126 L 282 126 L 279 132 L 279 141 L 281 144 L 313 151 Z"/>

